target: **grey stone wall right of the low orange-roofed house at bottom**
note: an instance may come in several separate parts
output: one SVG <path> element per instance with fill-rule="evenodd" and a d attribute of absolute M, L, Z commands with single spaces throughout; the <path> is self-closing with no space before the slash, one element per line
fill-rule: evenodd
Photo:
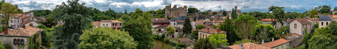
<path fill-rule="evenodd" d="M 293 39 L 288 39 L 288 41 L 289 41 L 289 47 L 293 49 L 302 43 L 302 36 L 293 38 Z"/>

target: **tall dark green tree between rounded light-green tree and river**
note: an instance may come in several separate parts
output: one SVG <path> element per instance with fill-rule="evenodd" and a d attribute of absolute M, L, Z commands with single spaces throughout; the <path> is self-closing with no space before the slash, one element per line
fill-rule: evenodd
<path fill-rule="evenodd" d="M 132 18 L 128 22 L 123 22 L 122 29 L 128 31 L 129 35 L 137 41 L 139 44 L 137 49 L 151 49 L 154 46 L 154 39 L 152 38 L 150 13 L 143 12 L 140 8 L 136 8 L 130 16 Z"/>

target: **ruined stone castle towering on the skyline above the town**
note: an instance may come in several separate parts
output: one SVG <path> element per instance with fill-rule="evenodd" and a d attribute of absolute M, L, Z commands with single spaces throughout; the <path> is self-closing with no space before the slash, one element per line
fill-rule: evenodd
<path fill-rule="evenodd" d="M 169 6 L 165 6 L 165 18 L 169 19 L 171 17 L 179 17 L 179 16 L 187 16 L 187 6 L 177 8 L 177 5 L 174 5 L 171 8 L 171 4 Z"/>

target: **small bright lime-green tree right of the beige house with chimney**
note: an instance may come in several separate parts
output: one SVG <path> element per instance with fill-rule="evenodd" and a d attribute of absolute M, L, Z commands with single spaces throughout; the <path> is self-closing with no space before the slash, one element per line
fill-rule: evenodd
<path fill-rule="evenodd" d="M 226 37 L 227 36 L 222 33 L 215 33 L 209 36 L 210 41 L 213 42 L 216 47 L 220 47 L 221 45 L 227 46 L 229 43 L 227 43 L 228 40 L 226 40 Z"/>

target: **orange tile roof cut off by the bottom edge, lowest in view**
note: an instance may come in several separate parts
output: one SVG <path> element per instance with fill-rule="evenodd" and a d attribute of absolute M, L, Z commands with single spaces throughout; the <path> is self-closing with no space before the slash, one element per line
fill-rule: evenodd
<path fill-rule="evenodd" d="M 228 46 L 232 49 L 239 49 L 240 48 L 240 44 L 238 45 L 231 45 L 231 46 Z M 244 49 L 271 49 L 271 48 L 268 48 L 268 47 L 264 47 L 264 46 L 261 46 L 261 45 L 257 45 L 257 44 L 254 44 L 254 43 L 245 43 L 243 44 L 243 48 Z"/>

